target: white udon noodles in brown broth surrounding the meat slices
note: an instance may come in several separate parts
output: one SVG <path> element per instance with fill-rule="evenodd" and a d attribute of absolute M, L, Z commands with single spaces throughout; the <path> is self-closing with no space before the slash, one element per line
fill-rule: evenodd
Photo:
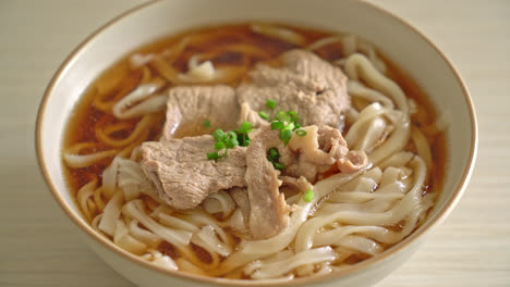
<path fill-rule="evenodd" d="M 246 240 L 241 211 L 226 191 L 199 208 L 174 210 L 141 165 L 139 145 L 165 121 L 167 90 L 236 86 L 254 63 L 300 47 L 341 67 L 352 108 L 342 135 L 369 166 L 328 171 L 315 197 L 286 198 L 290 223 Z M 440 187 L 444 124 L 409 78 L 372 43 L 283 25 L 231 25 L 183 33 L 130 54 L 99 77 L 78 104 L 62 158 L 84 219 L 118 247 L 168 270 L 239 279 L 289 280 L 349 269 L 403 240 L 425 220 Z M 177 137 L 207 134 L 196 126 Z"/>

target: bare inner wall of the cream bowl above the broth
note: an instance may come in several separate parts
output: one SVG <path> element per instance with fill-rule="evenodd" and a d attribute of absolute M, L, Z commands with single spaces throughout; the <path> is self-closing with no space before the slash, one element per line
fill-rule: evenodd
<path fill-rule="evenodd" d="M 474 112 L 462 80 L 441 53 L 398 18 L 361 1 L 195 0 L 159 1 L 118 18 L 64 63 L 45 95 L 37 124 L 38 157 L 60 203 L 86 225 L 66 189 L 60 160 L 66 120 L 86 87 L 107 67 L 143 43 L 205 24 L 268 20 L 345 32 L 375 43 L 429 96 L 449 120 L 444 188 L 427 222 L 444 217 L 460 197 L 476 150 Z M 84 228 L 87 228 L 86 226 Z M 92 233 L 93 229 L 88 228 Z M 409 238 L 408 238 L 409 239 Z"/>

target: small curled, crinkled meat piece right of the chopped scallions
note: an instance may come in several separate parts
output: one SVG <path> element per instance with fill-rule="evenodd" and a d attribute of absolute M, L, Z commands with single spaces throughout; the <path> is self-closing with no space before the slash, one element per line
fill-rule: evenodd
<path fill-rule="evenodd" d="M 366 166 L 366 154 L 363 151 L 350 152 L 340 130 L 326 125 L 306 126 L 302 129 L 306 132 L 305 136 L 293 136 L 289 141 L 289 150 L 293 153 L 287 151 L 284 157 L 280 155 L 280 162 L 287 166 L 287 175 L 304 176 L 308 182 L 315 183 L 317 174 L 327 171 L 335 163 L 345 173 Z"/>

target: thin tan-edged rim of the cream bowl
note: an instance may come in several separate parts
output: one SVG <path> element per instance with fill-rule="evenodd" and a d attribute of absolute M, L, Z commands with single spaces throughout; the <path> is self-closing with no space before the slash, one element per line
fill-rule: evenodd
<path fill-rule="evenodd" d="M 445 52 L 438 48 L 427 36 L 425 36 L 422 32 L 420 32 L 417 28 L 415 28 L 413 25 L 411 25 L 408 21 L 401 18 L 400 16 L 397 16 L 394 13 L 382 9 L 374 3 L 367 2 L 366 0 L 362 0 L 363 4 L 369 5 L 372 9 L 378 10 L 378 12 L 385 13 L 392 17 L 393 20 L 398 21 L 401 25 L 404 25 L 406 28 L 411 29 L 414 34 L 416 34 L 418 37 L 421 37 L 427 45 L 429 45 L 442 59 L 442 61 L 447 64 L 448 68 L 450 72 L 453 74 L 456 77 L 458 84 L 460 85 L 462 89 L 462 95 L 464 96 L 464 100 L 466 102 L 467 109 L 469 109 L 469 115 L 471 120 L 471 147 L 470 147 L 470 155 L 467 160 L 467 164 L 464 167 L 463 174 L 462 174 L 462 179 L 459 183 L 459 185 L 456 187 L 456 190 L 453 191 L 453 195 L 451 198 L 446 202 L 446 205 L 442 210 L 438 212 L 438 214 L 432 219 L 430 221 L 424 223 L 420 229 L 413 232 L 411 235 L 409 235 L 406 238 L 404 238 L 402 241 L 397 244 L 396 246 L 391 247 L 390 249 L 386 250 L 381 254 L 377 257 L 373 257 L 368 260 L 365 260 L 352 267 L 349 267 L 343 271 L 337 271 L 327 275 L 323 276 L 317 276 L 317 277 L 303 277 L 303 278 L 294 278 L 289 282 L 279 282 L 279 280 L 241 280 L 241 279 L 227 279 L 227 278 L 218 278 L 218 277 L 207 277 L 207 276 L 202 276 L 202 275 L 194 275 L 185 272 L 180 272 L 180 271 L 171 271 L 171 270 L 166 270 L 163 267 L 157 266 L 155 264 L 151 264 L 147 261 L 144 261 L 139 259 L 138 257 L 121 249 L 120 247 L 116 246 L 111 240 L 108 240 L 107 238 L 100 236 L 96 230 L 94 230 L 88 224 L 84 223 L 77 214 L 75 214 L 70 207 L 65 203 L 65 201 L 62 199 L 62 197 L 58 192 L 58 188 L 53 184 L 51 176 L 49 174 L 49 171 L 47 170 L 47 163 L 46 163 L 46 158 L 44 155 L 42 151 L 42 118 L 46 116 L 46 107 L 48 104 L 48 99 L 50 98 L 50 95 L 53 92 L 54 86 L 58 84 L 59 79 L 62 78 L 63 73 L 68 65 L 73 61 L 73 59 L 78 54 L 86 45 L 88 45 L 92 40 L 94 40 L 98 35 L 100 35 L 104 30 L 109 28 L 110 26 L 117 24 L 121 20 L 130 16 L 131 14 L 145 9 L 149 5 L 153 5 L 155 3 L 161 2 L 162 0 L 151 0 L 142 4 L 137 4 L 118 16 L 113 17 L 112 20 L 108 21 L 106 24 L 101 25 L 99 28 L 94 30 L 89 36 L 87 36 L 76 48 L 72 50 L 72 52 L 65 58 L 65 60 L 59 65 L 57 72 L 54 75 L 51 77 L 50 83 L 48 84 L 42 99 L 39 103 L 39 109 L 37 112 L 37 117 L 36 117 L 36 129 L 35 129 L 35 149 L 36 149 L 36 155 L 37 155 L 37 163 L 39 165 L 40 172 L 45 178 L 46 185 L 48 186 L 50 192 L 52 194 L 54 200 L 58 202 L 60 208 L 63 210 L 63 212 L 66 213 L 66 215 L 71 219 L 71 222 L 80 227 L 82 232 L 84 232 L 89 238 L 93 240 L 96 240 L 100 244 L 102 244 L 104 247 L 110 249 L 113 251 L 117 255 L 120 255 L 122 259 L 126 259 L 130 262 L 133 262 L 137 264 L 141 267 L 148 269 L 150 271 L 156 271 L 158 273 L 161 273 L 163 275 L 170 275 L 178 277 L 179 279 L 183 280 L 192 280 L 195 283 L 207 283 L 207 284 L 215 284 L 215 285 L 222 285 L 222 286 L 298 286 L 298 285 L 306 285 L 306 284 L 315 284 L 319 282 L 328 282 L 332 280 L 335 278 L 339 278 L 345 275 L 353 274 L 355 272 L 359 272 L 360 270 L 366 269 L 368 266 L 372 266 L 376 264 L 377 262 L 387 260 L 388 258 L 392 257 L 396 253 L 400 253 L 403 249 L 405 249 L 408 246 L 410 246 L 412 242 L 415 242 L 420 237 L 423 237 L 424 234 L 433 229 L 433 227 L 439 225 L 449 214 L 450 212 L 454 209 L 459 200 L 461 199 L 463 192 L 465 191 L 465 188 L 469 184 L 469 180 L 471 178 L 471 175 L 474 170 L 475 161 L 476 161 L 476 154 L 477 154 L 477 147 L 478 147 L 478 128 L 477 128 L 477 120 L 476 120 L 476 113 L 475 109 L 473 105 L 473 101 L 471 99 L 470 92 L 467 90 L 467 87 L 460 76 L 460 73 L 458 70 L 453 66 L 451 61 L 446 57 Z"/>

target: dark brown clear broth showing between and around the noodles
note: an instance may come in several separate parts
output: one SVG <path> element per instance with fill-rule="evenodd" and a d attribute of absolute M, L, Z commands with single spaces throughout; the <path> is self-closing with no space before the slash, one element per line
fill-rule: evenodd
<path fill-rule="evenodd" d="M 286 25 L 283 25 L 286 26 Z M 294 26 L 286 26 L 291 28 L 305 37 L 305 45 L 309 45 L 317 39 L 323 37 L 331 36 L 332 33 L 324 32 L 324 30 L 316 30 L 316 29 L 308 29 L 308 28 L 301 28 Z M 101 125 L 112 124 L 120 122 L 117 120 L 112 114 L 102 112 L 96 109 L 93 104 L 93 100 L 96 97 L 96 93 L 100 89 L 108 89 L 105 87 L 109 87 L 111 90 L 111 95 L 113 97 L 114 93 L 124 90 L 126 92 L 133 90 L 139 83 L 141 78 L 143 77 L 142 71 L 134 70 L 132 71 L 129 65 L 129 57 L 139 52 L 139 53 L 159 53 L 172 47 L 177 42 L 179 42 L 183 37 L 186 37 L 191 34 L 201 34 L 203 35 L 199 40 L 199 45 L 192 46 L 186 48 L 186 50 L 181 53 L 181 55 L 174 61 L 173 66 L 180 71 L 181 73 L 185 73 L 187 70 L 187 62 L 190 58 L 196 53 L 205 53 L 210 50 L 221 50 L 221 46 L 227 43 L 247 43 L 250 46 L 255 46 L 260 49 L 264 49 L 267 52 L 267 57 L 252 57 L 250 59 L 243 58 L 242 53 L 224 53 L 219 57 L 215 57 L 210 60 L 215 67 L 221 67 L 222 65 L 235 65 L 235 64 L 247 64 L 250 66 L 254 65 L 259 61 L 267 61 L 278 57 L 280 53 L 288 51 L 293 48 L 298 48 L 294 45 L 289 42 L 284 42 L 278 39 L 272 39 L 266 36 L 262 36 L 255 34 L 251 30 L 248 24 L 236 24 L 236 25 L 223 25 L 223 26 L 211 26 L 211 27 L 204 27 L 199 29 L 193 29 L 189 32 L 184 32 L 177 36 L 167 37 L 160 39 L 156 42 L 146 45 L 132 53 L 127 54 L 126 57 L 122 58 L 118 61 L 114 65 L 108 68 L 105 73 L 102 73 L 92 85 L 87 88 L 87 90 L 82 96 L 80 102 L 74 108 L 73 115 L 68 122 L 65 136 L 64 136 L 64 147 L 71 147 L 76 142 L 83 141 L 90 141 L 97 142 L 98 145 L 94 150 L 88 150 L 89 152 L 100 151 L 108 149 L 107 146 L 100 144 L 100 141 L 96 137 L 96 128 Z M 333 61 L 343 55 L 342 53 L 342 46 L 340 43 L 329 45 L 325 48 L 319 48 L 315 51 L 319 57 L 327 61 Z M 380 55 L 380 53 L 379 53 Z M 417 103 L 418 112 L 413 114 L 411 120 L 415 126 L 418 128 L 430 126 L 434 124 L 436 120 L 436 113 L 434 110 L 433 104 L 427 99 L 426 95 L 420 89 L 420 87 L 401 70 L 399 70 L 394 64 L 391 63 L 388 59 L 384 55 L 380 55 L 385 63 L 387 64 L 387 73 L 386 75 L 394 80 L 405 92 L 409 98 L 412 98 Z M 155 72 L 155 71 L 153 71 Z M 119 83 L 116 87 L 111 87 L 112 83 Z M 239 85 L 239 80 L 234 83 L 230 83 L 231 86 Z M 170 86 L 166 86 L 168 88 Z M 165 123 L 165 112 L 157 113 L 158 118 L 160 120 L 159 125 L 154 125 L 148 134 L 147 140 L 157 140 L 160 136 L 162 125 Z M 212 128 L 205 128 L 202 123 L 205 118 L 197 116 L 196 123 L 192 126 L 182 126 L 180 127 L 175 136 L 177 137 L 184 137 L 184 136 L 196 136 L 202 134 L 210 134 L 212 133 Z M 121 133 L 113 134 L 112 136 L 117 139 L 125 138 L 131 130 L 135 127 L 136 123 L 139 118 L 134 120 L 123 120 L 123 122 L 129 122 L 132 125 L 131 129 L 125 129 Z M 349 123 L 347 123 L 345 129 L 342 134 L 347 133 L 347 128 L 349 128 Z M 424 135 L 427 135 L 424 133 Z M 433 155 L 433 166 L 429 170 L 429 177 L 426 180 L 426 187 L 424 189 L 425 192 L 438 192 L 441 186 L 442 175 L 444 175 L 444 165 L 445 165 L 445 136 L 442 133 L 437 133 L 435 136 L 427 136 L 427 141 L 430 147 L 432 155 Z M 409 145 L 408 150 L 415 151 L 415 147 L 413 145 Z M 100 164 L 96 164 L 93 166 L 84 167 L 84 169 L 70 169 L 65 167 L 66 172 L 66 182 L 70 186 L 71 192 L 76 195 L 77 190 L 87 184 L 88 182 L 97 178 L 100 183 L 101 175 L 104 170 L 110 164 L 112 158 L 104 160 Z M 150 204 L 151 199 L 145 196 L 142 198 Z M 142 226 L 143 227 L 143 226 Z M 400 226 L 391 226 L 392 229 L 400 229 Z M 238 239 L 236 236 L 233 236 Z M 202 248 L 198 246 L 193 245 L 193 249 L 196 254 L 204 261 L 210 261 L 210 255 L 201 250 Z M 160 245 L 158 248 L 165 254 L 169 254 L 172 258 L 178 258 L 179 253 L 172 248 L 171 245 L 163 244 Z M 349 263 L 356 263 L 366 259 L 364 255 L 360 257 L 352 257 L 352 259 L 348 260 Z"/>

